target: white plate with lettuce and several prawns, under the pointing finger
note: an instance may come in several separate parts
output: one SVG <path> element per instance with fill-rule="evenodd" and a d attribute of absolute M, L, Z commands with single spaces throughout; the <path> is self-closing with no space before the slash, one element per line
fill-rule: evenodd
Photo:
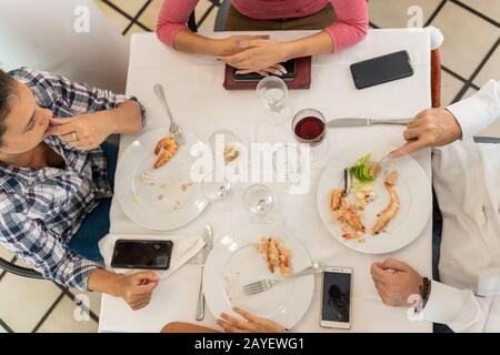
<path fill-rule="evenodd" d="M 356 142 L 346 146 L 327 164 L 318 185 L 318 210 L 327 230 L 343 245 L 366 254 L 384 254 L 402 248 L 413 242 L 427 225 L 432 211 L 432 190 L 428 175 L 420 164 L 410 155 L 397 160 L 386 160 L 398 171 L 399 178 L 396 191 L 400 200 L 400 210 L 388 224 L 386 232 L 371 235 L 371 227 L 380 213 L 390 202 L 389 194 L 383 186 L 386 171 L 373 184 L 376 201 L 369 203 L 364 211 L 363 222 L 367 233 L 363 242 L 344 240 L 341 236 L 340 223 L 330 212 L 330 193 L 333 189 L 343 187 L 343 170 L 353 165 L 361 156 L 371 153 L 373 160 L 381 160 L 394 148 L 390 145 L 373 145 Z"/>

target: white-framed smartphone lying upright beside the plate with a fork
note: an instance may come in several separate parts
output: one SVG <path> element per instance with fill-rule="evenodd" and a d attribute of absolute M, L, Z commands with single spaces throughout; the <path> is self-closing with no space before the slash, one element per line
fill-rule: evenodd
<path fill-rule="evenodd" d="M 323 272 L 320 326 L 351 327 L 352 268 L 329 266 Z"/>

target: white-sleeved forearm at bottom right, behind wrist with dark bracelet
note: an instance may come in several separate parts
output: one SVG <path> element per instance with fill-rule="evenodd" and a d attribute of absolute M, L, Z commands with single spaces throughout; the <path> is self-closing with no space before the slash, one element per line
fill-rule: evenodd
<path fill-rule="evenodd" d="M 476 297 L 470 291 L 433 281 L 422 317 L 447 324 L 458 333 L 499 332 L 500 296 Z"/>

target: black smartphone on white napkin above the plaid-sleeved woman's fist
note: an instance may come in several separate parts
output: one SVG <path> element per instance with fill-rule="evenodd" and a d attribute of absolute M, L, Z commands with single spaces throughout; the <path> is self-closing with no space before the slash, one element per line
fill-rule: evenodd
<path fill-rule="evenodd" d="M 118 240 L 111 266 L 116 268 L 169 270 L 171 241 Z"/>

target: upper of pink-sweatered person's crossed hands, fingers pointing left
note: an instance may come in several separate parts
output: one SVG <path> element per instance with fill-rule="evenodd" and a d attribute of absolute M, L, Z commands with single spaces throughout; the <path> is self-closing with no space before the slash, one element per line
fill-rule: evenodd
<path fill-rule="evenodd" d="M 283 43 L 269 39 L 240 40 L 240 51 L 231 55 L 220 55 L 227 64 L 240 69 L 239 73 L 261 72 L 288 60 Z"/>

